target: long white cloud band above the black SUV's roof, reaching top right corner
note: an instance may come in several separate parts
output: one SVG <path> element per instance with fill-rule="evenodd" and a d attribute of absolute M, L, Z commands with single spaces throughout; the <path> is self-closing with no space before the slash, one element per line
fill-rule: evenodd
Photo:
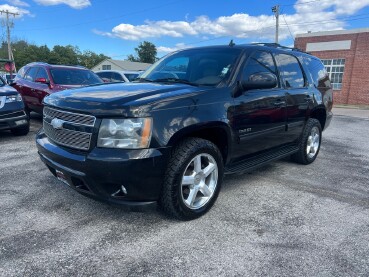
<path fill-rule="evenodd" d="M 304 4 L 305 2 L 308 2 Z M 284 14 L 280 17 L 280 39 L 290 36 L 287 24 L 293 34 L 307 31 L 339 30 L 346 26 L 339 17 L 350 16 L 360 9 L 369 6 L 369 0 L 298 0 L 294 14 Z M 188 19 L 188 17 L 186 18 Z M 324 21 L 324 22 L 323 22 Z M 287 24 L 286 24 L 287 22 Z M 124 40 L 143 40 L 163 36 L 182 38 L 184 36 L 198 37 L 234 37 L 256 40 L 273 40 L 275 32 L 275 17 L 268 15 L 251 16 L 237 13 L 210 19 L 202 15 L 193 21 L 146 21 L 142 25 L 122 23 L 110 32 L 96 31 L 100 35 L 117 37 Z M 163 52 L 169 49 L 161 46 Z"/>

